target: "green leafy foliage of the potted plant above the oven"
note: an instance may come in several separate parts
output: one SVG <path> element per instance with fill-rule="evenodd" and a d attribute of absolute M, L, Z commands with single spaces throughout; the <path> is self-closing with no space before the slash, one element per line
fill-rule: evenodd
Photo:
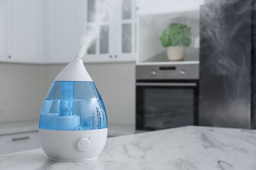
<path fill-rule="evenodd" d="M 190 27 L 178 23 L 169 24 L 165 29 L 163 29 L 160 41 L 163 47 L 190 46 Z"/>

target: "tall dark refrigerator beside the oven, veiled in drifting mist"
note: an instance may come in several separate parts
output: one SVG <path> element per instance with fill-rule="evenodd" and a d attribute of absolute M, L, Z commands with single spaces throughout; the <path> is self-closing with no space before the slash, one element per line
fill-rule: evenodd
<path fill-rule="evenodd" d="M 252 2 L 206 3 L 200 11 L 201 122 L 248 128 Z"/>

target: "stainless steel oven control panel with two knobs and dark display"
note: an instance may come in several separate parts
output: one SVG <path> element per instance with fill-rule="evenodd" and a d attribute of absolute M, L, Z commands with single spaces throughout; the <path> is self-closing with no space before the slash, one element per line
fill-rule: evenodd
<path fill-rule="evenodd" d="M 198 80 L 199 63 L 186 65 L 137 65 L 137 80 Z"/>

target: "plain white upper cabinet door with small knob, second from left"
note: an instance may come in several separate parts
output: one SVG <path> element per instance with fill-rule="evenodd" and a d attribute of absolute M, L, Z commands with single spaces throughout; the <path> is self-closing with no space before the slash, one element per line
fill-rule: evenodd
<path fill-rule="evenodd" d="M 39 0 L 7 0 L 7 61 L 39 61 Z"/>

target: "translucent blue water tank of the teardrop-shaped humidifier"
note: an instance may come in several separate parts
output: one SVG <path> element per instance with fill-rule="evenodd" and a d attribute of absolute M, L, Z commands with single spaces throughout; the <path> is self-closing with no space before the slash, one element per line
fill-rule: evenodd
<path fill-rule="evenodd" d="M 106 109 L 93 82 L 53 82 L 43 102 L 39 128 L 87 130 L 106 127 Z"/>

